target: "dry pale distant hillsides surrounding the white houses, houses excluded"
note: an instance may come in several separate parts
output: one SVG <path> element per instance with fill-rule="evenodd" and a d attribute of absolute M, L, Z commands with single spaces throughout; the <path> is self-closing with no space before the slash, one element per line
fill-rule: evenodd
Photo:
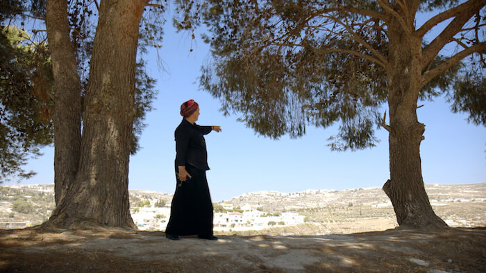
<path fill-rule="evenodd" d="M 55 206 L 53 191 L 53 184 L 0 186 L 0 224 L 18 222 L 35 225 L 47 220 Z M 426 185 L 426 191 L 435 213 L 451 227 L 486 226 L 486 183 Z M 156 191 L 129 192 L 132 213 L 141 206 L 162 206 L 171 202 L 173 196 Z M 323 230 L 326 233 L 347 233 L 396 226 L 392 204 L 381 188 L 299 193 L 260 191 L 244 193 L 220 203 L 231 203 L 235 207 L 252 204 L 269 212 L 297 212 L 305 215 L 306 222 L 320 226 L 318 231 L 305 227 L 307 233 L 322 234 Z"/>

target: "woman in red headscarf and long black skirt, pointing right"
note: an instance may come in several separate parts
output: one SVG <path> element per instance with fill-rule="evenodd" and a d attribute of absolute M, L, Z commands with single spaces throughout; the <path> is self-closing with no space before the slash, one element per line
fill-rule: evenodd
<path fill-rule="evenodd" d="M 212 202 L 206 180 L 208 152 L 203 135 L 212 130 L 221 132 L 221 127 L 197 125 L 199 105 L 194 100 L 181 105 L 181 116 L 183 121 L 175 132 L 177 186 L 165 236 L 171 240 L 179 240 L 181 235 L 217 240 L 212 235 Z"/>

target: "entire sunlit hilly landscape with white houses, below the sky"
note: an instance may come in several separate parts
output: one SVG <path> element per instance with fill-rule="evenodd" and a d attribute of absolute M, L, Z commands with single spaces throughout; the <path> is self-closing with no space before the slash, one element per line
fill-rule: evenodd
<path fill-rule="evenodd" d="M 433 209 L 451 227 L 486 226 L 486 183 L 426 185 Z M 138 229 L 163 231 L 172 195 L 130 191 Z M 0 228 L 40 224 L 55 204 L 53 184 L 0 186 Z M 213 204 L 216 234 L 349 234 L 396 227 L 391 202 L 380 188 L 300 193 L 244 193 Z"/>

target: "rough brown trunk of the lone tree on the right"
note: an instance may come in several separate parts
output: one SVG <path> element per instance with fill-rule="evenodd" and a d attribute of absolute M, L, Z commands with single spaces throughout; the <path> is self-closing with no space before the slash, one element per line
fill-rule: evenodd
<path fill-rule="evenodd" d="M 390 179 L 383 190 L 400 227 L 447 227 L 435 215 L 421 175 L 420 143 L 425 125 L 417 120 L 421 80 L 421 37 L 389 24 L 388 105 Z M 396 31 L 395 31 L 396 30 Z"/>

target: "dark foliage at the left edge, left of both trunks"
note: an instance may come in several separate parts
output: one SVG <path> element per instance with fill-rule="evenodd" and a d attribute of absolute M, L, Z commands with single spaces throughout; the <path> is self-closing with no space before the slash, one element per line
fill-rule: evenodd
<path fill-rule="evenodd" d="M 52 73 L 46 44 L 14 27 L 0 28 L 0 183 L 35 173 L 22 166 L 52 143 Z"/>

